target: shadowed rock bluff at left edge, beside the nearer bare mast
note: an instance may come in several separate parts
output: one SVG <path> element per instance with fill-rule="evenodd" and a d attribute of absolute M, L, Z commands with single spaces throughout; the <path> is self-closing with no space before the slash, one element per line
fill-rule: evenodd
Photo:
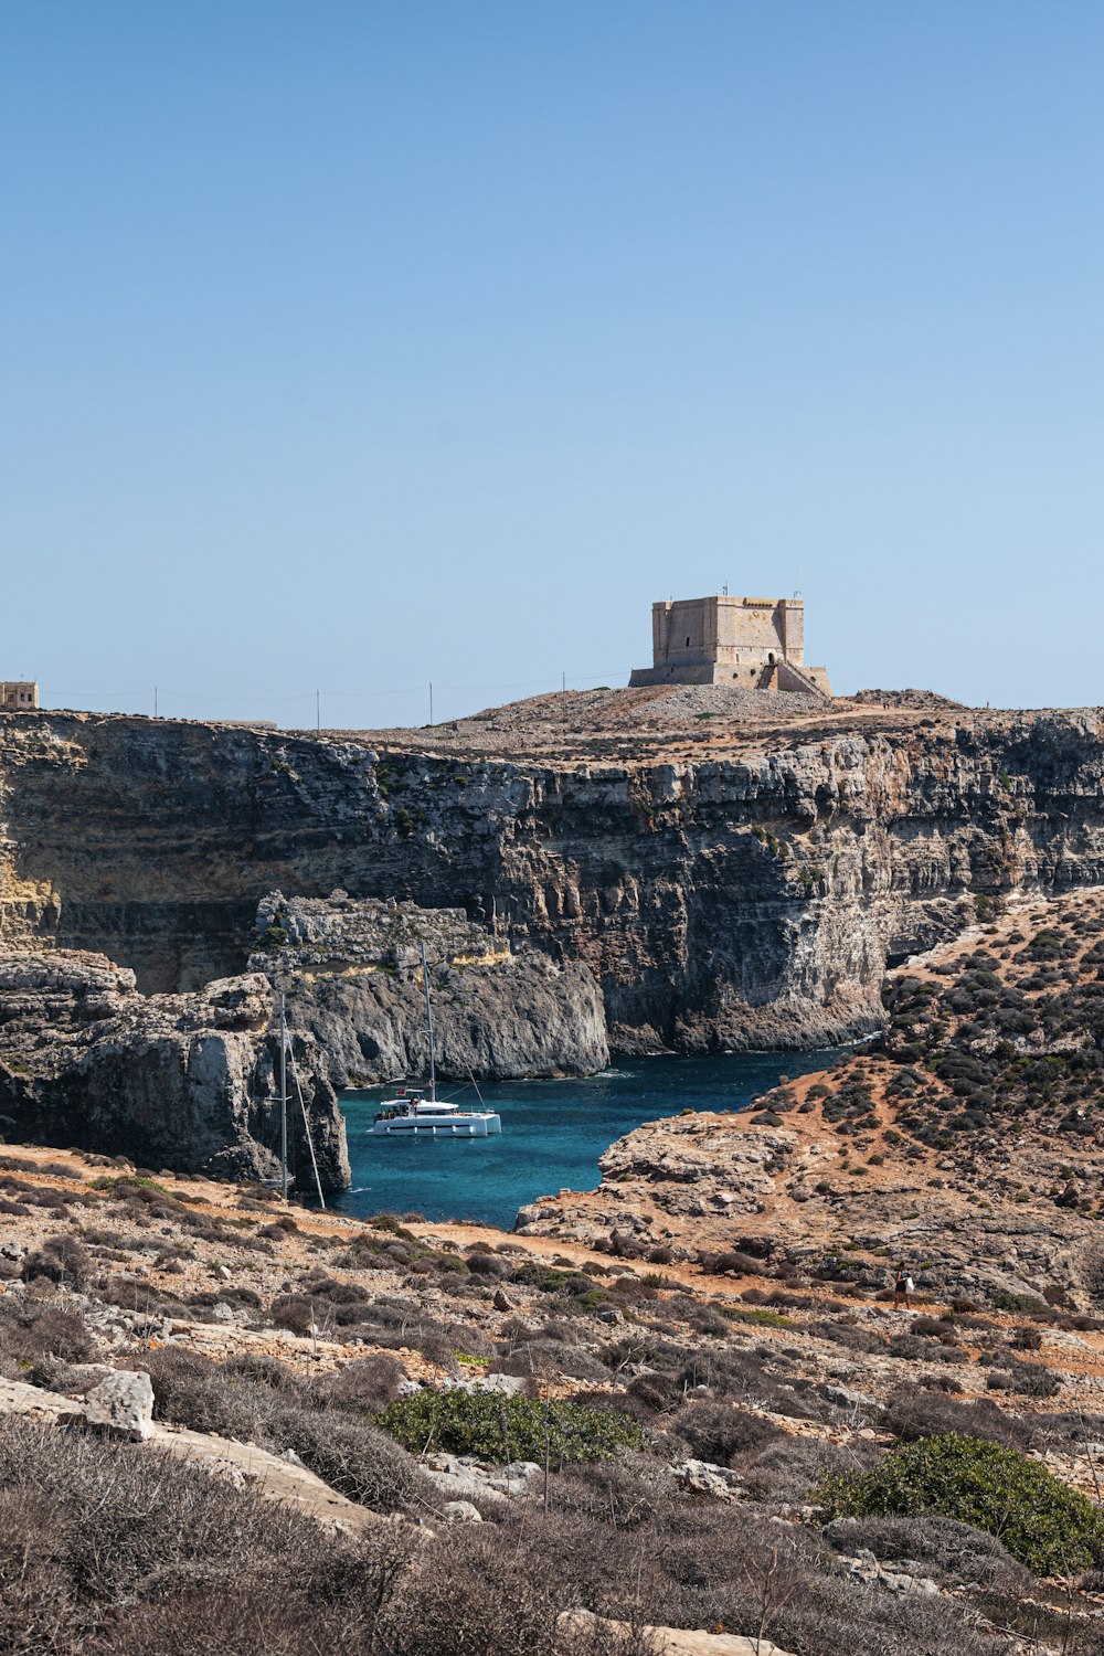
<path fill-rule="evenodd" d="M 260 975 L 200 994 L 139 995 L 103 956 L 0 954 L 0 1116 L 25 1141 L 131 1156 L 139 1164 L 265 1179 L 276 1159 L 278 1040 Z M 344 1126 L 324 1053 L 295 1037 L 295 1065 L 323 1186 L 349 1182 Z M 291 1159 L 311 1177 L 298 1098 Z"/>

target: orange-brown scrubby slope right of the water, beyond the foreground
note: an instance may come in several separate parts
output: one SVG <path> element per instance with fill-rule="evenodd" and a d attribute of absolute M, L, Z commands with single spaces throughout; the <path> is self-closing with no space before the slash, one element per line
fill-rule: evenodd
<path fill-rule="evenodd" d="M 889 975 L 882 1033 L 746 1114 L 639 1128 L 523 1234 L 785 1257 L 872 1285 L 1094 1315 L 1104 1250 L 1104 893 L 1010 903 Z M 692 1100 L 687 1101 L 692 1106 Z M 1051 1338 L 1051 1336 L 1048 1336 Z M 1076 1330 L 1058 1330 L 1076 1348 Z M 1028 1358 L 1030 1361 L 1030 1358 Z"/>

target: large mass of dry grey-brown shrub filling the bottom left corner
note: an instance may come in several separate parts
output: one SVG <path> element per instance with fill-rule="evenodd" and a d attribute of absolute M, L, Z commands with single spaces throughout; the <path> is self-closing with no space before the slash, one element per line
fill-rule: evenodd
<path fill-rule="evenodd" d="M 3 1651 L 367 1656 L 415 1547 L 336 1537 L 146 1446 L 0 1423 Z"/>

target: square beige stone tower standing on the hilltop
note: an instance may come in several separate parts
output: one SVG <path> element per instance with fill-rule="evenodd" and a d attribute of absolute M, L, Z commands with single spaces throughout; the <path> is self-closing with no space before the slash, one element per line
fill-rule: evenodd
<path fill-rule="evenodd" d="M 637 684 L 735 684 L 831 696 L 826 667 L 804 664 L 799 598 L 670 598 L 652 604 L 652 666 Z"/>

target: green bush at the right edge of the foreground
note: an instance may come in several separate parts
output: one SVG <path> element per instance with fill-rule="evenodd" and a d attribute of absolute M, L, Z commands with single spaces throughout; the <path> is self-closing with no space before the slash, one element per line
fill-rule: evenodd
<path fill-rule="evenodd" d="M 1073 1575 L 1104 1555 L 1104 1512 L 1091 1500 L 1018 1449 L 958 1432 L 826 1479 L 816 1499 L 833 1519 L 937 1514 L 972 1524 L 1036 1575 Z"/>

